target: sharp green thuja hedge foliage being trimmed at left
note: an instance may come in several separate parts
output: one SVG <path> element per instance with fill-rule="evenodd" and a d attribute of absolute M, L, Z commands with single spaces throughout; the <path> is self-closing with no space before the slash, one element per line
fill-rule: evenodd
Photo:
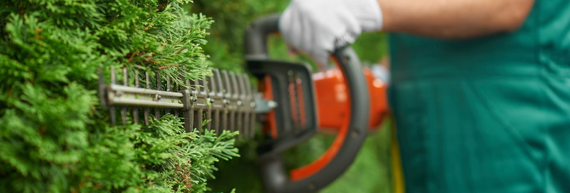
<path fill-rule="evenodd" d="M 207 75 L 211 19 L 189 0 L 0 2 L 0 192 L 203 192 L 235 133 L 185 133 L 167 115 L 109 124 L 97 68 L 181 83 Z"/>

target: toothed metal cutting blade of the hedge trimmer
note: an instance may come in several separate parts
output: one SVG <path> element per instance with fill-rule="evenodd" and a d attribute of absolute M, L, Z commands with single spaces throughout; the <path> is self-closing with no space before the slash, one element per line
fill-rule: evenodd
<path fill-rule="evenodd" d="M 133 76 L 129 77 L 128 68 L 123 67 L 121 71 L 123 72 L 121 85 L 116 83 L 114 67 L 111 67 L 111 84 L 99 82 L 101 104 L 109 106 L 109 116 L 113 124 L 116 123 L 117 106 L 120 107 L 122 124 L 127 124 L 127 115 L 130 114 L 133 123 L 138 124 L 139 108 L 143 108 L 145 125 L 149 125 L 150 108 L 152 108 L 157 120 L 165 113 L 174 111 L 177 116 L 178 112 L 181 112 L 186 132 L 197 129 L 198 133 L 202 133 L 203 129 L 211 129 L 219 134 L 221 130 L 238 130 L 242 137 L 249 138 L 254 135 L 256 113 L 267 112 L 271 109 L 267 104 L 275 103 L 261 100 L 257 89 L 252 91 L 246 74 L 212 69 L 212 76 L 194 80 L 193 84 L 190 84 L 190 80 L 185 80 L 186 84 L 192 85 L 192 88 L 179 89 L 179 85 L 174 85 L 172 77 L 169 76 L 164 77 L 164 88 L 162 77 L 155 73 L 156 88 L 152 88 L 149 72 L 145 71 L 144 76 L 140 76 L 141 72 L 134 69 L 131 72 Z M 100 73 L 101 79 L 102 76 Z M 141 81 L 145 83 L 144 88 L 141 88 Z M 129 85 L 129 82 L 133 85 Z M 258 106 L 256 102 L 266 105 Z M 259 109 L 260 107 L 263 108 Z"/>

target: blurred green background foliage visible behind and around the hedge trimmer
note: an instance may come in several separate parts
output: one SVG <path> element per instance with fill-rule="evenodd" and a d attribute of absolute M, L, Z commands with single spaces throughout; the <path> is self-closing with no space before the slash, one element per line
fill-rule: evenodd
<path fill-rule="evenodd" d="M 208 31 L 208 43 L 204 46 L 209 55 L 209 65 L 243 71 L 243 34 L 247 25 L 255 18 L 272 13 L 280 13 L 290 0 L 194 0 L 187 7 L 192 13 L 203 13 L 215 20 Z M 380 61 L 387 53 L 386 35 L 381 33 L 363 34 L 353 44 L 364 64 Z M 269 41 L 272 58 L 305 61 L 306 56 L 290 56 L 286 44 L 279 37 Z M 389 171 L 389 122 L 380 130 L 370 133 L 355 162 L 339 179 L 325 187 L 321 192 L 391 192 Z M 293 169 L 315 160 L 333 141 L 330 134 L 318 134 L 316 137 L 287 151 L 284 155 L 286 165 Z M 257 143 L 238 141 L 241 158 L 217 164 L 219 171 L 216 179 L 210 180 L 209 186 L 214 192 L 262 192 L 255 147 Z"/>

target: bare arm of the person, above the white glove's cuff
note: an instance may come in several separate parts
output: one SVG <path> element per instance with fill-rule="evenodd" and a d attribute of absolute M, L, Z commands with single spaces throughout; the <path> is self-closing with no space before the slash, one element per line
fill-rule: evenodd
<path fill-rule="evenodd" d="M 382 31 L 466 39 L 517 30 L 535 0 L 377 0 Z"/>

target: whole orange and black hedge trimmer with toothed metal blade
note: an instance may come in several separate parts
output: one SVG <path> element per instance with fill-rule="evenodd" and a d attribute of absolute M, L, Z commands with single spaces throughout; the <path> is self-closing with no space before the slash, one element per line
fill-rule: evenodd
<path fill-rule="evenodd" d="M 148 124 L 150 114 L 160 118 L 171 113 L 183 118 L 186 132 L 237 130 L 253 138 L 260 123 L 267 138 L 258 148 L 266 191 L 317 191 L 347 169 L 368 128 L 380 124 L 386 112 L 385 85 L 363 69 L 349 47 L 333 54 L 338 69 L 315 75 L 305 64 L 268 59 L 266 39 L 278 31 L 278 18 L 259 19 L 246 32 L 247 71 L 258 86 L 252 86 L 245 73 L 218 69 L 201 80 L 185 80 L 192 88 L 171 83 L 172 77 L 129 73 L 127 68 L 122 68 L 122 83 L 117 83 L 112 68 L 110 84 L 100 73 L 101 104 L 109 107 L 113 124 L 119 122 L 117 110 L 121 124 L 129 122 L 128 114 L 133 123 Z M 281 153 L 319 130 L 336 133 L 331 147 L 316 161 L 287 175 Z"/>

